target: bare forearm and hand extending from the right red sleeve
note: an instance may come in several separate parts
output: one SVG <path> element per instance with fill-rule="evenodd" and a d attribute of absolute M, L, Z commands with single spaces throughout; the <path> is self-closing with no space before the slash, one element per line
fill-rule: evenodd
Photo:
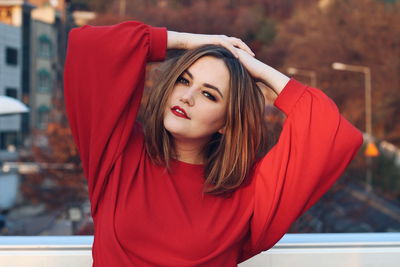
<path fill-rule="evenodd" d="M 254 79 L 271 87 L 279 95 L 285 85 L 289 82 L 290 78 L 278 70 L 261 62 L 257 58 L 250 56 L 242 49 L 235 49 L 239 55 L 239 61 L 247 69 L 250 75 Z"/>

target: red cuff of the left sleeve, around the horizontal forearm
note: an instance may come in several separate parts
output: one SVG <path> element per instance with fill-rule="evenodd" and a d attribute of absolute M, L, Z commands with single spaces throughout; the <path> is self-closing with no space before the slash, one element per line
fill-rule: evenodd
<path fill-rule="evenodd" d="M 149 61 L 162 61 L 167 51 L 167 28 L 150 27 Z"/>

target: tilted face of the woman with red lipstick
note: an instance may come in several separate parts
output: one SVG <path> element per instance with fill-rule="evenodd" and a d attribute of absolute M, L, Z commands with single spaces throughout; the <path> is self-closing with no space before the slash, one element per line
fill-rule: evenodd
<path fill-rule="evenodd" d="M 179 76 L 164 111 L 164 127 L 174 138 L 204 139 L 223 132 L 229 71 L 218 58 L 204 56 Z"/>

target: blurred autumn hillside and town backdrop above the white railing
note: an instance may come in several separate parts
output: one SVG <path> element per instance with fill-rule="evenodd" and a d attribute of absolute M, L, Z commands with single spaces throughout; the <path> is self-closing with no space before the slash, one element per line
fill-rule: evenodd
<path fill-rule="evenodd" d="M 63 104 L 67 36 L 126 20 L 239 37 L 364 133 L 343 177 L 290 232 L 400 231 L 400 1 L 0 0 L 0 235 L 93 234 Z M 273 143 L 285 117 L 266 111 Z"/>

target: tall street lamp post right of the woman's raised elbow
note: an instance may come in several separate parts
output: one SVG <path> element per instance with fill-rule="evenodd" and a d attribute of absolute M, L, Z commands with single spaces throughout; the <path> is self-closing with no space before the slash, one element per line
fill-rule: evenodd
<path fill-rule="evenodd" d="M 335 70 L 344 70 L 344 71 L 352 71 L 352 72 L 361 72 L 364 73 L 364 86 L 365 86 L 365 132 L 367 133 L 367 142 L 368 147 L 374 147 L 376 151 L 378 151 L 375 147 L 375 144 L 372 142 L 372 108 L 371 108 L 371 69 L 366 66 L 359 65 L 348 65 L 344 63 L 334 62 L 332 64 L 332 68 Z M 373 155 L 367 154 L 367 185 L 366 190 L 372 190 L 372 157 L 377 156 L 378 153 L 374 153 Z"/>

